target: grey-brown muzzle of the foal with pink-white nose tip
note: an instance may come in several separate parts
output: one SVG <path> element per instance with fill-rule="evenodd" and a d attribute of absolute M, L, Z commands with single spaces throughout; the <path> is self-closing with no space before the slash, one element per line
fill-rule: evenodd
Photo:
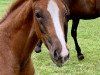
<path fill-rule="evenodd" d="M 56 39 L 46 39 L 45 45 L 47 46 L 52 61 L 58 66 L 62 66 L 69 59 L 69 50 L 67 46 L 62 47 L 60 42 Z"/>

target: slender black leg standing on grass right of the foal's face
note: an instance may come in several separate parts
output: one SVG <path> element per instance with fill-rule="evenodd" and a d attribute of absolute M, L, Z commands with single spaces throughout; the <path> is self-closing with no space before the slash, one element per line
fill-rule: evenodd
<path fill-rule="evenodd" d="M 79 60 L 82 60 L 82 59 L 84 59 L 84 56 L 81 53 L 81 48 L 79 47 L 78 41 L 77 41 L 77 27 L 78 27 L 78 24 L 79 24 L 79 19 L 73 19 L 71 35 L 72 35 L 72 37 L 74 39 L 74 42 L 75 42 L 77 57 L 78 57 Z"/>

